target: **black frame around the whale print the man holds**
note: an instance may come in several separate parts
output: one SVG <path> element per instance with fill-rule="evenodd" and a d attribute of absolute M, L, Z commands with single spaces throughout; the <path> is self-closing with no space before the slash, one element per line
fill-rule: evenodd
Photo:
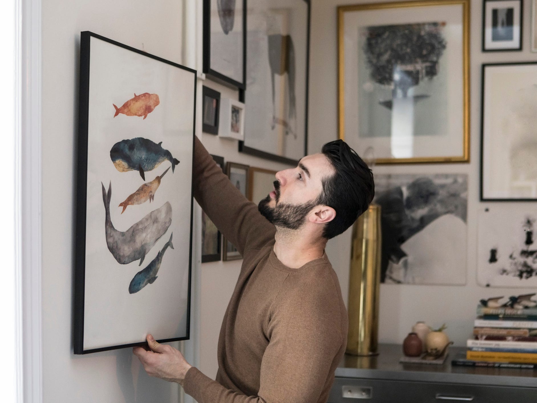
<path fill-rule="evenodd" d="M 194 140 L 195 140 L 195 98 L 197 87 L 197 71 L 180 64 L 165 60 L 162 57 L 158 57 L 153 54 L 149 54 L 139 49 L 121 44 L 120 42 L 112 39 L 105 38 L 101 35 L 90 31 L 81 32 L 80 42 L 80 66 L 79 66 L 79 97 L 78 97 L 78 139 L 77 139 L 77 207 L 76 207 L 76 238 L 75 242 L 75 264 L 74 264 L 74 318 L 73 318 L 73 350 L 74 354 L 90 354 L 93 352 L 114 350 L 135 346 L 147 346 L 147 342 L 125 343 L 115 346 L 107 346 L 102 348 L 84 349 L 84 302 L 85 302 L 85 274 L 86 274 L 86 198 L 87 198 L 87 186 L 88 186 L 88 141 L 89 141 L 89 108 L 90 108 L 90 43 L 91 38 L 96 38 L 109 44 L 126 49 L 127 51 L 140 54 L 144 57 L 150 57 L 151 59 L 170 64 L 171 66 L 192 73 L 192 81 L 194 85 L 193 93 L 193 131 L 192 131 L 192 153 L 194 152 Z M 194 168 L 194 157 L 192 155 L 192 167 Z M 186 336 L 185 337 L 170 337 L 166 339 L 157 340 L 159 343 L 166 343 L 172 341 L 189 340 L 190 339 L 190 311 L 191 311 L 191 280 L 192 280 L 192 223 L 193 223 L 193 191 L 194 184 L 190 189 L 190 247 L 188 254 L 188 291 L 187 291 L 187 307 L 186 307 Z"/>

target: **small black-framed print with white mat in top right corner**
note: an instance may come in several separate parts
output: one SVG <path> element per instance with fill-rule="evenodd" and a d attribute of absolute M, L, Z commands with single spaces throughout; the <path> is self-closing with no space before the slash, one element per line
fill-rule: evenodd
<path fill-rule="evenodd" d="M 483 52 L 522 50 L 522 0 L 483 0 Z"/>

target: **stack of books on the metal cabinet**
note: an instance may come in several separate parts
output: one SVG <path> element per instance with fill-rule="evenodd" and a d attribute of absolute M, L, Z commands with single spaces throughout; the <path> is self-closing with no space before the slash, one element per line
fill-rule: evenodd
<path fill-rule="evenodd" d="M 537 369 L 537 307 L 478 305 L 473 336 L 452 365 Z"/>

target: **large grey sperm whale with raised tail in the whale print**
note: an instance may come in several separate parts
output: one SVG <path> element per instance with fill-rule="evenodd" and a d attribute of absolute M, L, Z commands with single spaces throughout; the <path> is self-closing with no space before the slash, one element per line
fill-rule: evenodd
<path fill-rule="evenodd" d="M 146 217 L 133 224 L 127 231 L 121 232 L 114 228 L 110 218 L 110 199 L 112 183 L 106 192 L 103 183 L 103 202 L 106 211 L 105 233 L 106 245 L 112 256 L 120 264 L 127 264 L 140 259 L 140 265 L 146 254 L 161 238 L 171 224 L 171 204 L 164 203 L 157 210 L 151 211 Z"/>

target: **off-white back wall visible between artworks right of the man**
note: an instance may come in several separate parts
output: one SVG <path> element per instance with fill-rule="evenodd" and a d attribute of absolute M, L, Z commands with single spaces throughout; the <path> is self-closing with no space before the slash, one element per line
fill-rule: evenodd
<path fill-rule="evenodd" d="M 344 4 L 371 3 L 374 0 L 313 0 L 310 47 L 310 149 L 337 138 L 337 15 Z M 524 2 L 523 52 L 481 52 L 482 1 L 471 0 L 470 12 L 470 163 L 427 164 L 375 167 L 374 174 L 465 173 L 468 174 L 468 255 L 466 286 L 426 286 L 382 284 L 380 291 L 379 341 L 402 343 L 412 325 L 424 320 L 430 325 L 447 323 L 447 334 L 456 345 L 464 345 L 471 334 L 475 306 L 481 298 L 524 292 L 527 289 L 485 289 L 476 283 L 477 213 L 479 202 L 479 160 L 481 119 L 481 64 L 493 62 L 535 61 L 529 51 L 531 6 Z M 509 207 L 513 204 L 503 203 Z M 536 204 L 527 204 L 535 208 Z M 346 301 L 349 293 L 349 256 L 351 233 L 329 242 L 326 250 L 335 268 Z"/>

